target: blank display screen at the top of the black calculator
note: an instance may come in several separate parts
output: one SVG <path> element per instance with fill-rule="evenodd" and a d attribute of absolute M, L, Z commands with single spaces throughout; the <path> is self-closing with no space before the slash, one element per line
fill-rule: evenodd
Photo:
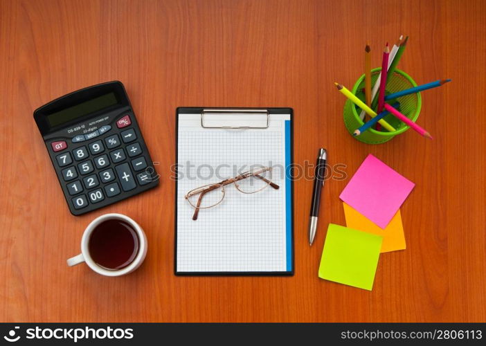
<path fill-rule="evenodd" d="M 81 102 L 75 106 L 62 109 L 47 116 L 47 121 L 51 127 L 62 125 L 65 122 L 70 122 L 89 113 L 100 111 L 102 109 L 118 104 L 115 93 L 107 93 L 105 95 L 92 98 L 91 100 Z"/>

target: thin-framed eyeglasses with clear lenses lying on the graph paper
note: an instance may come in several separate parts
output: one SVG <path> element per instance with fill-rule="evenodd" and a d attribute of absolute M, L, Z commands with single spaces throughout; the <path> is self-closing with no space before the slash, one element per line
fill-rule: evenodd
<path fill-rule="evenodd" d="M 195 188 L 190 190 L 184 197 L 195 208 L 192 219 L 197 220 L 200 209 L 213 208 L 221 203 L 226 193 L 224 186 L 232 183 L 235 184 L 235 188 L 238 191 L 244 194 L 254 194 L 267 188 L 267 186 L 271 186 L 276 190 L 279 188 L 276 183 L 271 182 L 271 167 L 258 167 L 255 170 L 235 176 L 235 178 Z"/>

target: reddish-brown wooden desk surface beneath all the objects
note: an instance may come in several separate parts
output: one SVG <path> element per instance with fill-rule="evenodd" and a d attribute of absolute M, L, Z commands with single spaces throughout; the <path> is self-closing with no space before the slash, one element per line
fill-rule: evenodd
<path fill-rule="evenodd" d="M 0 321 L 483 321 L 486 320 L 484 1 L 55 1 L 0 2 Z M 399 34 L 400 62 L 423 93 L 419 122 L 364 145 L 343 126 L 344 98 Z M 109 80 L 132 100 L 161 185 L 73 217 L 33 120 L 60 95 Z M 345 224 L 325 186 L 309 248 L 312 181 L 295 184 L 294 277 L 175 277 L 174 110 L 178 106 L 293 107 L 295 161 L 352 175 L 372 153 L 416 183 L 402 207 L 406 251 L 381 255 L 373 291 L 317 277 L 329 222 Z M 121 212 L 145 228 L 145 264 L 109 278 L 68 268 L 89 221 Z"/>

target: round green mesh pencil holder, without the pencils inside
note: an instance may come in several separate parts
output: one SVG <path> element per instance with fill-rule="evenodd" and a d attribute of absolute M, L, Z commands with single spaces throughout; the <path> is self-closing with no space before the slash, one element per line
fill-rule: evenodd
<path fill-rule="evenodd" d="M 372 69 L 371 85 L 375 84 L 380 71 L 381 68 Z M 365 95 L 363 92 L 363 88 L 365 86 L 364 78 L 365 75 L 361 75 L 361 78 L 359 78 L 356 84 L 354 84 L 351 91 L 363 102 L 365 102 Z M 417 83 L 415 83 L 415 81 L 409 75 L 404 73 L 404 71 L 395 70 L 392 77 L 386 83 L 386 95 L 389 93 L 396 93 L 397 91 L 404 89 L 410 89 L 413 86 L 417 86 Z M 398 110 L 402 112 L 404 116 L 415 122 L 420 114 L 420 107 L 422 107 L 422 98 L 420 98 L 420 93 L 405 95 L 401 98 L 397 98 L 396 100 L 388 100 L 386 103 L 393 104 L 397 101 L 400 102 Z M 361 108 L 357 107 L 350 100 L 346 101 L 344 105 L 344 125 L 351 135 L 354 133 L 354 130 L 363 125 L 363 120 L 359 118 L 359 113 L 361 113 Z M 391 114 L 385 116 L 384 120 L 393 126 L 396 131 L 387 131 L 382 127 L 381 131 L 377 131 L 376 129 L 368 129 L 359 136 L 353 137 L 363 143 L 379 144 L 387 142 L 388 140 L 397 136 L 397 134 L 402 134 L 402 132 L 409 128 L 404 124 L 404 122 L 401 122 Z"/>

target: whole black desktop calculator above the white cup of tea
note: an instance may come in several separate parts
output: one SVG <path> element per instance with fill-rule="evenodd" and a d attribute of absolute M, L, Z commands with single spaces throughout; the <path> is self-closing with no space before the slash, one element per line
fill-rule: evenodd
<path fill-rule="evenodd" d="M 73 215 L 159 185 L 121 82 L 64 95 L 36 109 L 34 119 Z"/>

